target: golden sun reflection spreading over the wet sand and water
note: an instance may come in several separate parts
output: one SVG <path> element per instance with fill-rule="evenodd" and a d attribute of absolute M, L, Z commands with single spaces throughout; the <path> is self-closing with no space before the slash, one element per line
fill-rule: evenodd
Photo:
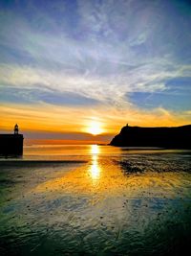
<path fill-rule="evenodd" d="M 35 193 L 53 193 L 62 191 L 67 194 L 102 195 L 113 197 L 173 197 L 181 186 L 181 173 L 128 173 L 117 161 L 99 158 L 99 148 L 90 149 L 92 160 L 88 164 L 75 168 L 72 172 L 60 175 L 35 187 Z M 128 170 L 127 170 L 128 171 Z M 189 180 L 188 180 L 189 182 Z"/>

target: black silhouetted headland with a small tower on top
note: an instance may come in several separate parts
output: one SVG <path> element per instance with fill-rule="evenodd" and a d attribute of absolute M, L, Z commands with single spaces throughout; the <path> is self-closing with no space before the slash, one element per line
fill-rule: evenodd
<path fill-rule="evenodd" d="M 191 149 L 191 125 L 182 127 L 121 128 L 110 145 L 118 147 L 153 147 L 164 149 Z"/>

